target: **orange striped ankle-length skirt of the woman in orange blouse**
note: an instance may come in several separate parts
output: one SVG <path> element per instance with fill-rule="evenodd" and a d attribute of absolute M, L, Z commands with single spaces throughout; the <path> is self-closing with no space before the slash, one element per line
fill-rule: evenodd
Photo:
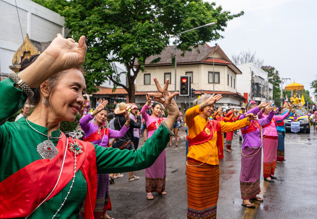
<path fill-rule="evenodd" d="M 187 160 L 189 165 L 200 162 Z M 219 165 L 203 164 L 198 167 L 186 165 L 187 218 L 213 219 L 217 215 L 219 193 Z"/>

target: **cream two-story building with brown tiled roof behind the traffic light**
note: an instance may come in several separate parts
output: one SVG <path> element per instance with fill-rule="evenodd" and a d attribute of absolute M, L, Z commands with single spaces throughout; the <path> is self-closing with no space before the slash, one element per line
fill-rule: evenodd
<path fill-rule="evenodd" d="M 153 81 L 157 77 L 160 83 L 164 83 L 167 78 L 170 79 L 169 91 L 174 91 L 175 87 L 175 67 L 172 64 L 175 46 L 167 46 L 160 55 L 150 56 L 145 62 L 145 71 L 140 72 L 135 81 L 136 99 L 138 105 L 146 102 L 145 94 L 156 91 Z M 241 106 L 245 100 L 240 93 L 237 93 L 236 76 L 242 74 L 225 55 L 223 50 L 218 46 L 210 47 L 208 44 L 199 45 L 198 51 L 193 48 L 191 52 L 181 55 L 177 51 L 177 75 L 176 87 L 179 91 L 180 76 L 191 76 L 191 87 L 194 88 L 196 99 L 199 95 L 213 93 L 213 81 L 215 82 L 215 93 L 221 93 L 223 98 L 217 102 L 217 105 L 223 106 Z M 214 57 L 214 59 L 213 59 Z M 160 58 L 160 61 L 151 64 L 154 59 Z M 213 77 L 214 62 L 214 77 Z M 191 103 L 194 99 L 191 99 Z M 186 98 L 187 103 L 189 98 Z M 185 98 L 177 97 L 177 104 L 184 109 Z M 192 106 L 192 104 L 191 104 Z"/>

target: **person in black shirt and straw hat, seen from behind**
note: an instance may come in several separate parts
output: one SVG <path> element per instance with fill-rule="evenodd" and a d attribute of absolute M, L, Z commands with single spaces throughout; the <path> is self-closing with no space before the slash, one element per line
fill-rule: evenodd
<path fill-rule="evenodd" d="M 126 103 L 121 102 L 119 103 L 119 107 L 114 109 L 115 114 L 119 114 L 116 119 L 114 119 L 114 127 L 116 130 L 121 130 L 122 126 L 124 126 L 126 122 L 126 113 L 129 110 L 131 106 L 126 105 Z M 134 145 L 133 145 L 133 128 L 140 128 L 141 127 L 141 117 L 140 117 L 140 112 L 137 114 L 137 121 L 133 121 L 133 119 L 130 120 L 130 128 L 126 132 L 125 136 L 123 138 L 117 138 L 116 143 L 117 143 L 117 148 L 120 150 L 128 149 L 128 150 L 134 150 Z M 138 180 L 139 177 L 134 176 L 133 172 L 129 172 L 129 181 L 134 181 Z"/>

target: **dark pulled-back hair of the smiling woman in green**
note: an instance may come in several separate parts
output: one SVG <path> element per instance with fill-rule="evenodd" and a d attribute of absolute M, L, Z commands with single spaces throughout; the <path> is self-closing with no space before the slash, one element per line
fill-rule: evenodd
<path fill-rule="evenodd" d="M 30 58 L 25 58 L 22 63 L 21 63 L 21 68 L 19 69 L 19 71 L 22 71 L 24 70 L 25 68 L 29 67 L 36 59 L 37 57 L 39 56 L 40 54 L 35 54 L 35 55 L 31 55 Z M 81 71 L 81 73 L 83 75 L 86 74 L 86 71 L 83 69 L 83 67 L 80 65 L 80 66 L 77 66 L 75 67 L 77 70 Z M 55 75 L 53 75 L 52 77 L 50 77 L 47 82 L 49 83 L 49 87 L 50 87 L 50 92 L 49 94 L 51 94 L 56 85 L 57 85 L 57 82 L 64 76 L 64 73 L 67 72 L 66 71 L 61 71 L 59 73 L 56 73 Z M 34 91 L 34 96 L 29 98 L 29 104 L 30 105 L 33 105 L 33 106 L 36 106 L 40 100 L 41 100 L 41 90 L 40 90 L 40 86 L 37 87 L 36 91 Z M 109 111 L 108 111 L 109 112 Z"/>

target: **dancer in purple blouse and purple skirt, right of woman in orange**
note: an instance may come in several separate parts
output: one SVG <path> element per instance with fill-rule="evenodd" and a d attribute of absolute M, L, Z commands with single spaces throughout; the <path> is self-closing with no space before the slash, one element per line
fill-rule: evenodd
<path fill-rule="evenodd" d="M 252 101 L 247 106 L 247 113 L 256 115 L 262 107 L 269 106 L 272 103 L 261 102 L 259 106 Z M 255 208 L 249 199 L 263 201 L 263 198 L 256 196 L 260 193 L 261 177 L 261 156 L 262 156 L 262 137 L 261 126 L 268 124 L 273 118 L 273 108 L 268 108 L 270 113 L 264 119 L 252 121 L 250 126 L 241 129 L 243 135 L 243 144 L 241 149 L 241 172 L 240 172 L 240 190 L 242 205 L 247 208 Z M 241 115 L 239 119 L 245 116 Z"/>

